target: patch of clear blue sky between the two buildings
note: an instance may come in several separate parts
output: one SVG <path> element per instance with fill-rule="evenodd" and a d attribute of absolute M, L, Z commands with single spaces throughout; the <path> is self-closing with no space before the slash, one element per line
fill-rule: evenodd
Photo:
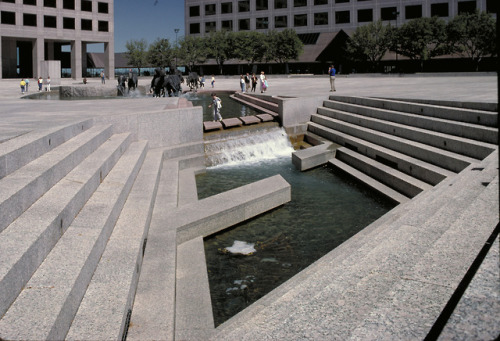
<path fill-rule="evenodd" d="M 115 52 L 125 52 L 129 40 L 167 38 L 175 44 L 184 36 L 183 0 L 115 0 Z"/>

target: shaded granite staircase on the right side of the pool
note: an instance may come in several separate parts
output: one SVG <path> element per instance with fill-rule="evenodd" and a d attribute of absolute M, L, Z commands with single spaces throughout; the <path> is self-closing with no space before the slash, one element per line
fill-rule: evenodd
<path fill-rule="evenodd" d="M 332 166 L 401 203 L 495 151 L 497 125 L 492 111 L 331 96 L 308 134 L 341 146 Z"/>

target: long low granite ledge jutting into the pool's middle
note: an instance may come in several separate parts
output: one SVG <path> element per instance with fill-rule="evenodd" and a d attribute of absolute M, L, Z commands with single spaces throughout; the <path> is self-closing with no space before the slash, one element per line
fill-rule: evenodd
<path fill-rule="evenodd" d="M 185 205 L 172 213 L 169 221 L 177 228 L 179 245 L 222 231 L 290 200 L 290 184 L 281 175 L 275 175 Z"/>

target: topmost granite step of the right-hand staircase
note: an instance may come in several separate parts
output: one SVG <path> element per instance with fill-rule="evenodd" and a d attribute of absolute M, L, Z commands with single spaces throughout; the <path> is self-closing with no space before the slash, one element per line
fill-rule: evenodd
<path fill-rule="evenodd" d="M 449 105 L 446 105 L 446 103 L 432 103 L 432 101 L 427 100 L 427 103 L 417 103 L 416 100 L 394 100 L 347 96 L 330 96 L 330 99 L 344 103 L 395 110 L 450 121 L 465 122 L 493 128 L 498 127 L 497 110 L 493 110 L 493 112 L 486 110 L 485 107 L 490 107 L 488 103 L 477 103 L 475 107 L 484 109 L 474 109 L 451 106 L 452 104 L 456 105 L 457 102 L 452 102 L 449 103 Z"/>

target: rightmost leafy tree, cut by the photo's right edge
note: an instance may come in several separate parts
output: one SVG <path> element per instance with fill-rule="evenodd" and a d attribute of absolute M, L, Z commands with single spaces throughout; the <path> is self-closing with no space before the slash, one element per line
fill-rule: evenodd
<path fill-rule="evenodd" d="M 476 71 L 482 58 L 496 52 L 495 19 L 476 10 L 454 17 L 446 26 L 451 51 L 471 59 Z"/>

